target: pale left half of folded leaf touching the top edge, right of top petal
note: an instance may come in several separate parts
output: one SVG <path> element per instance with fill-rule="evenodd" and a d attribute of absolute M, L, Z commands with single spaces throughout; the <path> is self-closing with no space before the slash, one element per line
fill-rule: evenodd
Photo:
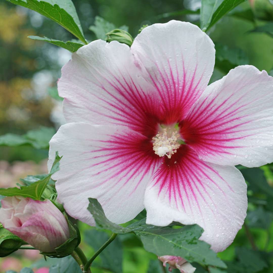
<path fill-rule="evenodd" d="M 206 31 L 214 12 L 224 0 L 201 0 L 200 28 Z"/>

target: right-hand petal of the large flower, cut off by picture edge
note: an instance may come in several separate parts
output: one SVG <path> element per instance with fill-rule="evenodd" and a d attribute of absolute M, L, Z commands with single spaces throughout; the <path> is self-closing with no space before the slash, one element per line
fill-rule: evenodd
<path fill-rule="evenodd" d="M 273 78 L 238 66 L 209 85 L 181 130 L 204 161 L 259 167 L 273 161 Z"/>

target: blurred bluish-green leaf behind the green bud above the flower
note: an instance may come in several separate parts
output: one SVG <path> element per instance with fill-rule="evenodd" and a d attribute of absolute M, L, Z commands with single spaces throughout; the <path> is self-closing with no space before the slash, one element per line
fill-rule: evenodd
<path fill-rule="evenodd" d="M 114 24 L 109 23 L 108 21 L 104 20 L 100 16 L 95 17 L 94 24 L 95 25 L 90 26 L 89 29 L 95 33 L 97 39 L 102 39 L 102 40 L 106 40 L 106 33 L 117 28 Z M 124 31 L 128 31 L 127 26 L 120 26 L 119 29 L 122 29 Z"/>

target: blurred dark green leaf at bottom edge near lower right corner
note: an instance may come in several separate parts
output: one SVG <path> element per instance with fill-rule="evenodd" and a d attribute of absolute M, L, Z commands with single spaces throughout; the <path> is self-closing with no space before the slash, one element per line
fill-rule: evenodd
<path fill-rule="evenodd" d="M 260 257 L 259 251 L 236 247 L 236 256 L 237 261 L 227 262 L 228 273 L 256 273 L 268 267 Z"/>

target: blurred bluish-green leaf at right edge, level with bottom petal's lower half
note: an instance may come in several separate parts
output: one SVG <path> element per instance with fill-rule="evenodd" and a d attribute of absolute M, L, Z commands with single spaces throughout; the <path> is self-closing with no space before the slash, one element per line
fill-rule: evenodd
<path fill-rule="evenodd" d="M 273 220 L 273 213 L 266 211 L 262 206 L 256 210 L 247 213 L 248 227 L 258 227 L 262 229 L 268 229 Z"/>

